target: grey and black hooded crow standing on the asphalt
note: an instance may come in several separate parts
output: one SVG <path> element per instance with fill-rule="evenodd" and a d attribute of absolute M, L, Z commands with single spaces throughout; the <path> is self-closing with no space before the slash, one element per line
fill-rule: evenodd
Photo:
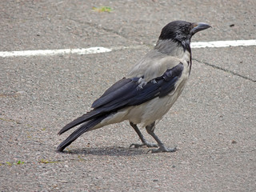
<path fill-rule="evenodd" d="M 63 134 L 78 126 L 57 148 L 62 151 L 80 135 L 113 123 L 128 120 L 142 144 L 140 146 L 158 147 L 157 152 L 174 152 L 176 147 L 167 148 L 154 134 L 156 122 L 165 115 L 182 93 L 191 70 L 190 39 L 200 30 L 210 26 L 202 22 L 174 21 L 162 28 L 154 49 L 137 62 L 126 78 L 110 86 L 92 104 L 90 110 L 70 122 L 58 132 Z M 146 127 L 157 144 L 147 142 L 138 124 Z"/>

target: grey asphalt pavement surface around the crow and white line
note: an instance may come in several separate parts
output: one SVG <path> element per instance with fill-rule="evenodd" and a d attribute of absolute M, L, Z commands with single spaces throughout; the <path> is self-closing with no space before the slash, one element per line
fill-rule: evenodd
<path fill-rule="evenodd" d="M 122 122 L 56 152 L 70 134 L 58 130 L 126 76 L 168 22 L 213 26 L 192 42 L 251 40 L 255 12 L 254 0 L 0 1 L 0 51 L 112 50 L 0 57 L 0 191 L 256 191 L 256 46 L 192 50 L 190 80 L 155 130 L 178 151 L 130 149 L 140 141 Z"/>

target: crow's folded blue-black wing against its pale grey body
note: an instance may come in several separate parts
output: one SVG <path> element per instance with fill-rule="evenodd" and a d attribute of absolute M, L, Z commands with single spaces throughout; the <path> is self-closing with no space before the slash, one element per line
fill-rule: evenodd
<path fill-rule="evenodd" d="M 161 77 L 147 82 L 142 88 L 138 88 L 139 78 L 123 78 L 106 90 L 92 107 L 96 110 L 110 106 L 137 106 L 152 98 L 164 97 L 175 89 L 175 82 L 182 75 L 182 71 L 183 64 L 179 63 L 174 68 L 166 70 Z"/>

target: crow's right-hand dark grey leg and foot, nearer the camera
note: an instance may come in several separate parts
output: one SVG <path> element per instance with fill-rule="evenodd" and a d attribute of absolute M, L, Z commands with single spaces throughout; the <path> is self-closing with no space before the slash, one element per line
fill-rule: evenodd
<path fill-rule="evenodd" d="M 159 148 L 158 149 L 155 149 L 155 150 L 149 150 L 151 151 L 152 153 L 158 153 L 158 152 L 174 152 L 177 150 L 176 146 L 174 148 L 166 148 L 166 146 L 164 146 L 164 144 L 160 141 L 160 139 L 158 138 L 158 136 L 156 134 L 154 134 L 154 128 L 155 128 L 155 125 L 154 125 L 154 122 L 150 125 L 150 126 L 146 126 L 146 131 L 148 134 L 150 134 L 154 140 L 156 142 L 158 142 L 158 146 Z"/>

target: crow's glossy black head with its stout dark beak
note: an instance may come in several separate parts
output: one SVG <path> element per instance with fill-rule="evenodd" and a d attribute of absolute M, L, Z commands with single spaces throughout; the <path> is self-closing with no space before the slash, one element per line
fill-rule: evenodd
<path fill-rule="evenodd" d="M 192 36 L 200 30 L 206 30 L 210 26 L 202 22 L 184 22 L 175 21 L 170 22 L 162 28 L 159 39 L 170 39 L 175 42 L 189 41 Z"/>

